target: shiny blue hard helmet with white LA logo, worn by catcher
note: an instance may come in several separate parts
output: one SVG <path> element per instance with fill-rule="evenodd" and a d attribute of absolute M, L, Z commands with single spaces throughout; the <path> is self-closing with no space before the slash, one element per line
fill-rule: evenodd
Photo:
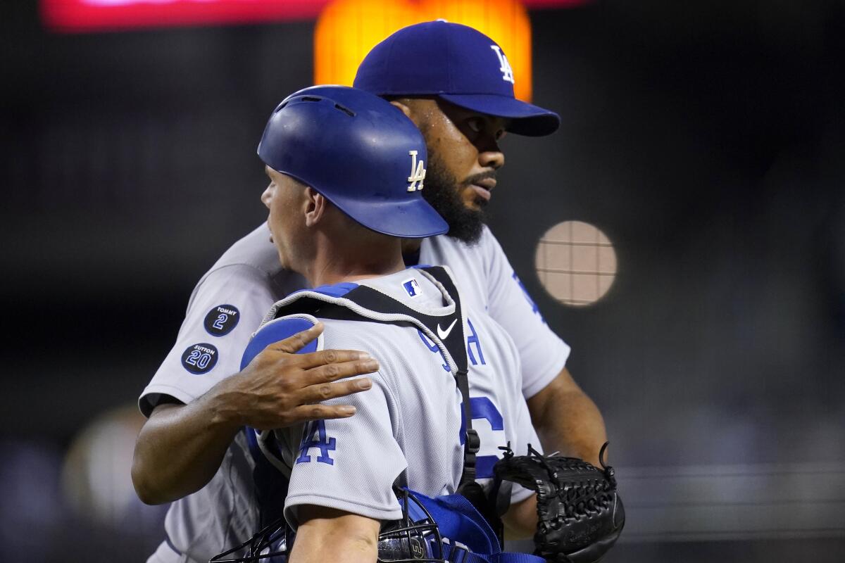
<path fill-rule="evenodd" d="M 423 199 L 425 141 L 389 102 L 347 86 L 313 86 L 276 106 L 258 149 L 368 229 L 420 238 L 449 230 Z"/>

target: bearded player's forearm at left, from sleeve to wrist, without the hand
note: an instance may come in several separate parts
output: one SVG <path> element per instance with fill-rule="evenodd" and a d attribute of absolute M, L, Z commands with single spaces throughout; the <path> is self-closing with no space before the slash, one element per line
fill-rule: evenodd
<path fill-rule="evenodd" d="M 214 476 L 241 425 L 217 388 L 188 404 L 156 407 L 135 443 L 132 480 L 147 504 L 175 501 Z"/>

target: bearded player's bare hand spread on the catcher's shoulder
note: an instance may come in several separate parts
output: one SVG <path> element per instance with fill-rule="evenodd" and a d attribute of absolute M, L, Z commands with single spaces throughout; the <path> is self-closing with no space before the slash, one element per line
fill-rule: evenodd
<path fill-rule="evenodd" d="M 373 385 L 368 377 L 339 380 L 378 371 L 379 363 L 357 350 L 297 354 L 322 332 L 323 324 L 318 322 L 308 330 L 269 344 L 240 373 L 218 383 L 218 412 L 257 430 L 355 414 L 351 405 L 320 402 L 366 391 Z"/>

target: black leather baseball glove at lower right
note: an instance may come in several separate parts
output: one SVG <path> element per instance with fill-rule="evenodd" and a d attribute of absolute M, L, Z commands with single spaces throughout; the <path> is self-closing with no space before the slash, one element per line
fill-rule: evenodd
<path fill-rule="evenodd" d="M 535 555 L 550 563 L 593 563 L 619 538 L 625 511 L 613 468 L 604 464 L 606 447 L 598 454 L 603 470 L 577 457 L 543 456 L 530 445 L 527 456 L 507 448 L 493 467 L 497 485 L 513 481 L 537 491 Z"/>

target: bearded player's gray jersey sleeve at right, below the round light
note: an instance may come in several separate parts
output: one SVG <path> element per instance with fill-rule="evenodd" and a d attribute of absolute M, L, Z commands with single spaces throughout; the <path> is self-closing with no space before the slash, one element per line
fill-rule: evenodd
<path fill-rule="evenodd" d="M 548 328 L 488 229 L 479 246 L 487 268 L 488 312 L 513 338 L 522 365 L 522 394 L 532 398 L 564 369 L 570 347 Z"/>

